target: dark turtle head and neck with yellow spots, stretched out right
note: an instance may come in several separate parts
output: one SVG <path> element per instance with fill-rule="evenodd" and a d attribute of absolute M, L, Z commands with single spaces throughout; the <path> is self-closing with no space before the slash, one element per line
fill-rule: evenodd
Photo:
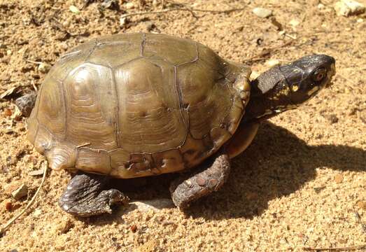
<path fill-rule="evenodd" d="M 251 83 L 247 118 L 268 119 L 296 109 L 331 85 L 335 59 L 328 55 L 310 55 L 283 66 L 274 66 Z"/>

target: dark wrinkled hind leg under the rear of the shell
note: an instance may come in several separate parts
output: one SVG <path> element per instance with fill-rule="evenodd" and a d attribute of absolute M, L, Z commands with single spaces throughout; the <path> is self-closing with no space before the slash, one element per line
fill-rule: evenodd
<path fill-rule="evenodd" d="M 108 178 L 97 174 L 78 174 L 71 179 L 59 199 L 59 207 L 73 216 L 111 214 L 111 205 L 127 204 L 119 190 L 102 190 Z"/>

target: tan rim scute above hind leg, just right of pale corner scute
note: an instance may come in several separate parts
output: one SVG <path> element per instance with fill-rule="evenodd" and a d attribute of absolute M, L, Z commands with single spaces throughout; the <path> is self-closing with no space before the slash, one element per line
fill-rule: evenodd
<path fill-rule="evenodd" d="M 106 151 L 92 151 L 89 148 L 78 148 L 76 168 L 85 172 L 109 174 L 111 172 L 110 158 Z"/>

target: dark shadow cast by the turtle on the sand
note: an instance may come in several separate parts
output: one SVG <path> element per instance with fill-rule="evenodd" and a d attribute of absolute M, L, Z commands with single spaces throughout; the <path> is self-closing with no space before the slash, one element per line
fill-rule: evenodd
<path fill-rule="evenodd" d="M 331 167 L 362 172 L 366 170 L 365 164 L 366 151 L 361 148 L 308 146 L 285 128 L 266 122 L 261 125 L 253 144 L 232 160 L 232 171 L 223 188 L 192 203 L 185 214 L 207 220 L 253 218 L 268 208 L 269 201 L 290 195 L 314 179 L 316 169 Z M 169 199 L 169 185 L 177 176 L 117 179 L 111 187 L 134 201 Z M 314 193 L 324 187 L 314 188 Z"/>

